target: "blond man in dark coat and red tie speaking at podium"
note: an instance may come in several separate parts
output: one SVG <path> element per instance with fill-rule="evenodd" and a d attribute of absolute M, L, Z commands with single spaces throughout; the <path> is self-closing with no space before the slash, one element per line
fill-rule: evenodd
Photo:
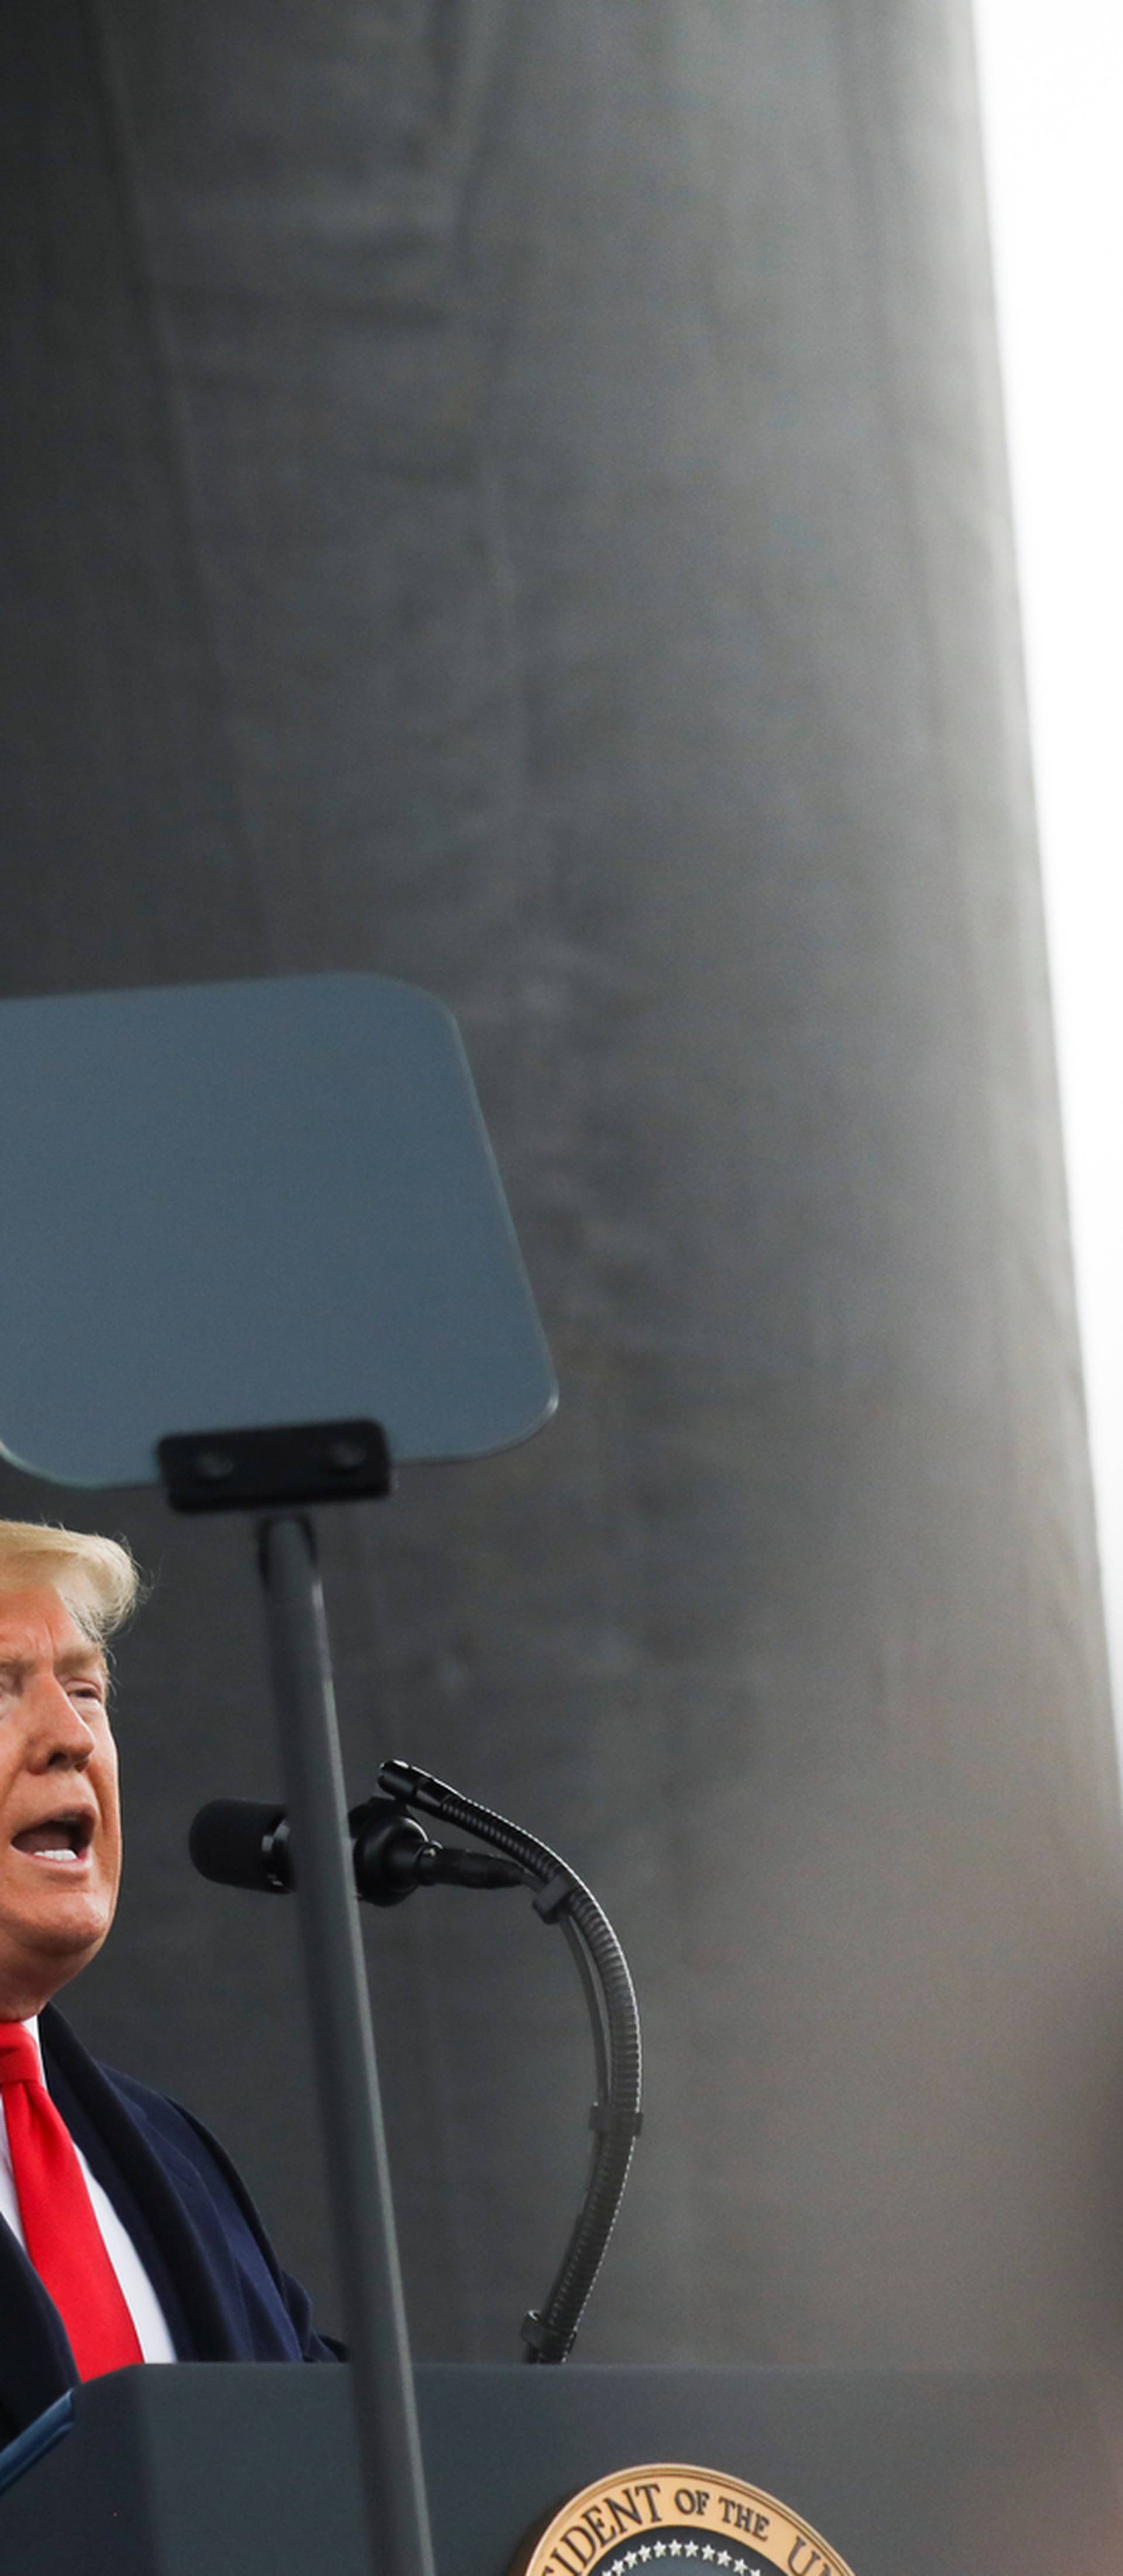
<path fill-rule="evenodd" d="M 129 2362 L 330 2362 L 222 2146 L 98 2066 L 52 1996 L 121 1880 L 111 1538 L 0 1520 L 0 2442 Z"/>

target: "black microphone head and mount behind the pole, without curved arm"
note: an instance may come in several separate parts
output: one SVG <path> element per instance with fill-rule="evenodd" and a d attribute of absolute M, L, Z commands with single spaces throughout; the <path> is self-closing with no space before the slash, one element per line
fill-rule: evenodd
<path fill-rule="evenodd" d="M 371 1906 L 399 1906 L 415 1888 L 520 1888 L 525 1873 L 497 1852 L 466 1852 L 430 1842 L 397 1798 L 368 1798 L 348 1816 L 355 1888 Z M 263 1888 L 286 1896 L 296 1868 L 283 1806 L 252 1798 L 211 1798 L 191 1824 L 188 1852 L 201 1878 L 222 1888 Z"/>

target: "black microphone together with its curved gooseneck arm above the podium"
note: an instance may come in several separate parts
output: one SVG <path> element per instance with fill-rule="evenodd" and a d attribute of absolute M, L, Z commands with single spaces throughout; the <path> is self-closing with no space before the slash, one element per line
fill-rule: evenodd
<path fill-rule="evenodd" d="M 531 1886 L 536 1914 L 562 1927 L 577 1963 L 598 2069 L 598 2097 L 590 2110 L 592 2156 L 577 2223 L 549 2295 L 523 2318 L 525 2360 L 564 2362 L 616 2226 L 641 2128 L 641 2043 L 628 1963 L 592 1891 L 546 1842 L 464 1798 L 433 1772 L 415 1770 L 412 1762 L 384 1762 L 379 1788 L 386 1790 L 384 1798 L 368 1798 L 348 1816 L 355 1888 L 368 1904 L 394 1906 L 415 1888 L 440 1880 L 471 1888 Z M 456 1844 L 430 1842 L 404 1814 L 407 1806 L 477 1834 L 489 1850 L 464 1852 Z M 191 1857 L 203 1878 L 216 1878 L 222 1886 L 276 1896 L 296 1886 L 283 1806 L 245 1798 L 203 1806 L 191 1826 Z"/>

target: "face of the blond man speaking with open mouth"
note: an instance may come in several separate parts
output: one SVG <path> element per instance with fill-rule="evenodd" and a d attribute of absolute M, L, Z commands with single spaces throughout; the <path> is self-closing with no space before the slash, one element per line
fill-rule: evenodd
<path fill-rule="evenodd" d="M 49 1584 L 0 1589 L 0 2020 L 100 1950 L 118 1880 L 106 1662 Z"/>

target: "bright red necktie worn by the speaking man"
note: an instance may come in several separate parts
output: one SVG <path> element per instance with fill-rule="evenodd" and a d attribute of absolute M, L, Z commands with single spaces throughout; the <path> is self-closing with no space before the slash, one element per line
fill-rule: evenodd
<path fill-rule="evenodd" d="M 137 2326 L 106 2254 L 93 2200 L 21 2022 L 0 2022 L 0 2094 L 28 2262 L 54 2298 L 82 2380 L 142 2362 Z"/>

